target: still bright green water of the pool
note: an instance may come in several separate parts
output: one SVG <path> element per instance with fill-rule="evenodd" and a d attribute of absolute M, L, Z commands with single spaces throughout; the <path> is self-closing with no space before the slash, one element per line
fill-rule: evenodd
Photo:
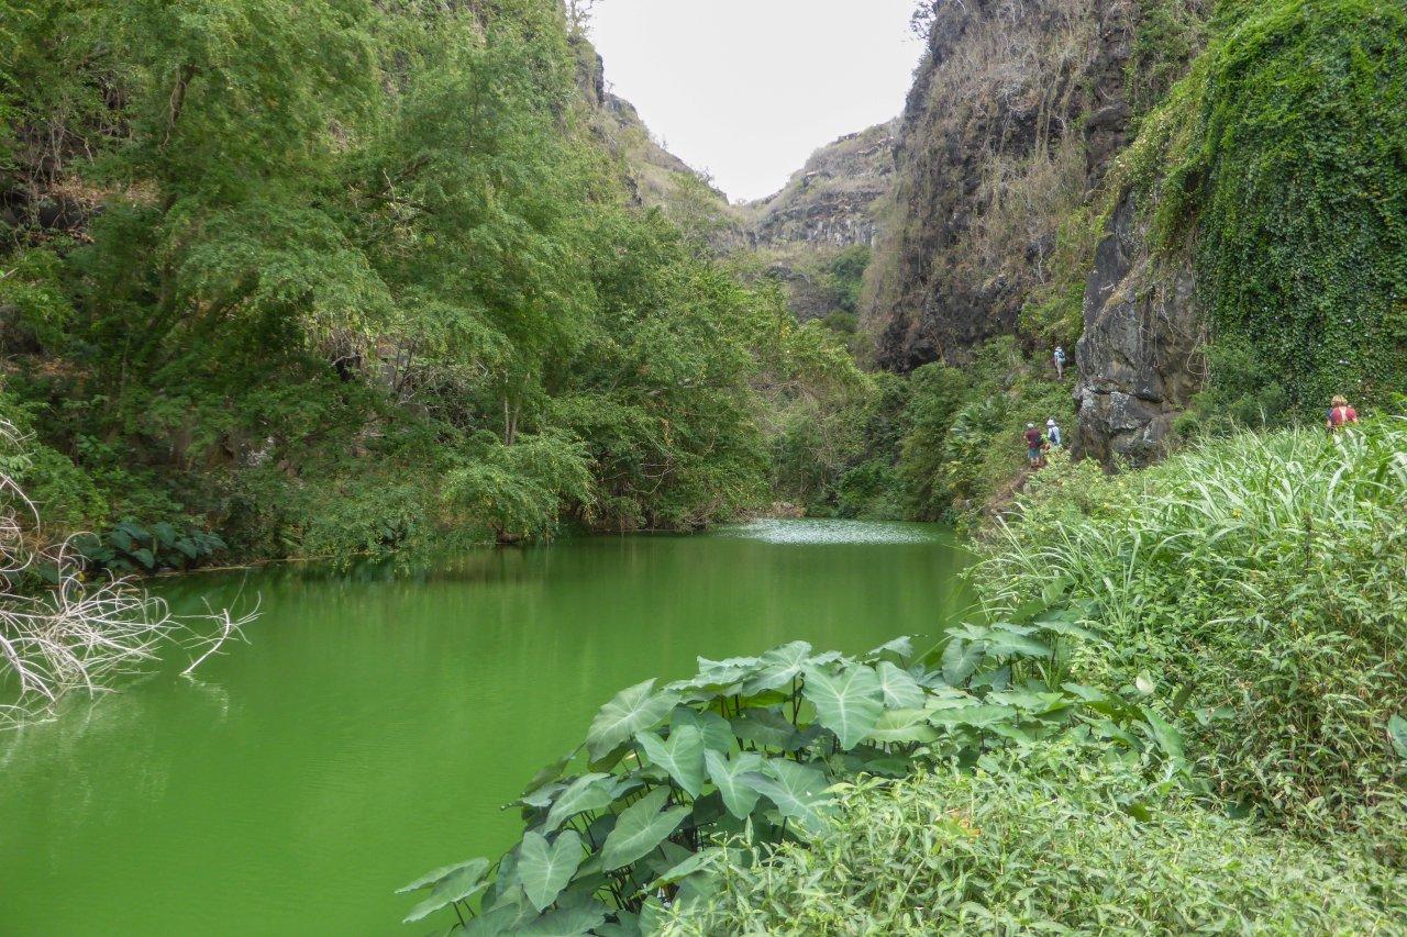
<path fill-rule="evenodd" d="M 511 846 L 499 805 L 616 689 L 933 635 L 961 563 L 940 528 L 802 521 L 165 585 L 263 615 L 198 680 L 0 736 L 0 934 L 424 933 L 391 892 Z"/>

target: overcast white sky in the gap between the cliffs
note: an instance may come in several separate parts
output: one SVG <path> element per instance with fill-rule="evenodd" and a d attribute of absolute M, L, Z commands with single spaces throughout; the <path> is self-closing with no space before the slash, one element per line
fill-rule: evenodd
<path fill-rule="evenodd" d="M 896 117 L 922 51 L 913 0 L 597 0 L 606 82 L 733 200 Z"/>

